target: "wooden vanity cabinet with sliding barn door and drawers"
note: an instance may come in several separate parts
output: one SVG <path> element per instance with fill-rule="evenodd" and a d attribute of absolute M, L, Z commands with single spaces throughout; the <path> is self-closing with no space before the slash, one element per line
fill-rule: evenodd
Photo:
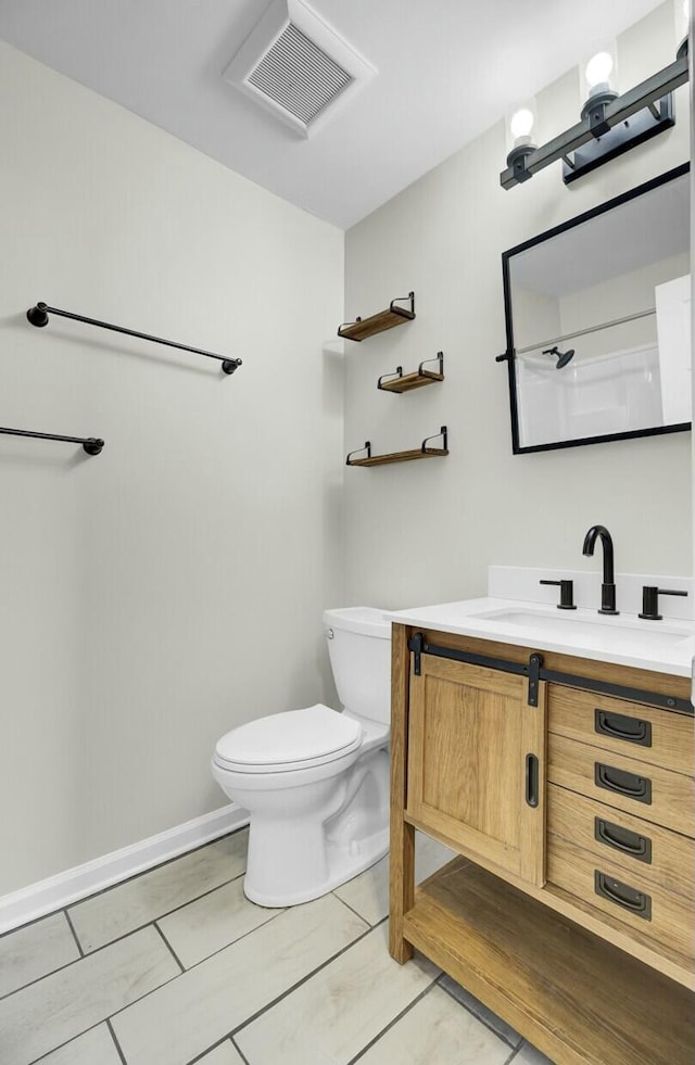
<path fill-rule="evenodd" d="M 690 682 L 541 652 L 531 684 L 532 649 L 408 625 L 392 650 L 393 956 L 557 1065 L 693 1065 L 693 717 L 662 708 Z M 416 828 L 460 854 L 417 888 Z"/>

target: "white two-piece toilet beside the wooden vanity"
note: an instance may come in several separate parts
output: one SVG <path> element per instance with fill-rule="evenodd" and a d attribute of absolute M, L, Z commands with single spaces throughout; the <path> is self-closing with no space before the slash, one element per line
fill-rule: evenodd
<path fill-rule="evenodd" d="M 338 713 L 318 703 L 232 728 L 212 761 L 250 815 L 244 893 L 263 906 L 317 899 L 389 848 L 391 624 L 382 610 L 324 612 Z"/>

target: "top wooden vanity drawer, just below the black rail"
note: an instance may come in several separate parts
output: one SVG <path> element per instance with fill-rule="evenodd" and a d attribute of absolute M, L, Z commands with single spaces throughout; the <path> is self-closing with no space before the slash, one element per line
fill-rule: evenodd
<path fill-rule="evenodd" d="M 593 692 L 548 685 L 549 732 L 677 773 L 695 774 L 695 722 Z"/>

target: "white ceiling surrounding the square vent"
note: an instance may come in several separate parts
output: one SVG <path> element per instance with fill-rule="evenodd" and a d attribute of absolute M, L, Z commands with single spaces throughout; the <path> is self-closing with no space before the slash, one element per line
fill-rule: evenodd
<path fill-rule="evenodd" d="M 0 0 L 0 38 L 348 228 L 661 0 L 307 2 L 379 72 L 308 140 L 222 78 L 267 0 Z"/>

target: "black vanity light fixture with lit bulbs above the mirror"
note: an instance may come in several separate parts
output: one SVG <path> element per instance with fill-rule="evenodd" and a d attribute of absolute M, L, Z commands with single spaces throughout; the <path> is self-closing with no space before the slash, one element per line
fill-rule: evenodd
<path fill-rule="evenodd" d="M 592 56 L 584 69 L 589 97 L 580 122 L 540 148 L 531 142 L 531 127 L 521 129 L 525 109 L 515 113 L 511 122 L 516 121 L 517 134 L 510 125 L 515 142 L 500 175 L 503 189 L 528 181 L 559 159 L 564 161 L 563 180 L 569 185 L 675 125 L 672 92 L 688 80 L 687 38 L 673 63 L 620 96 L 610 84 L 614 67 L 610 50 L 602 49 Z"/>

